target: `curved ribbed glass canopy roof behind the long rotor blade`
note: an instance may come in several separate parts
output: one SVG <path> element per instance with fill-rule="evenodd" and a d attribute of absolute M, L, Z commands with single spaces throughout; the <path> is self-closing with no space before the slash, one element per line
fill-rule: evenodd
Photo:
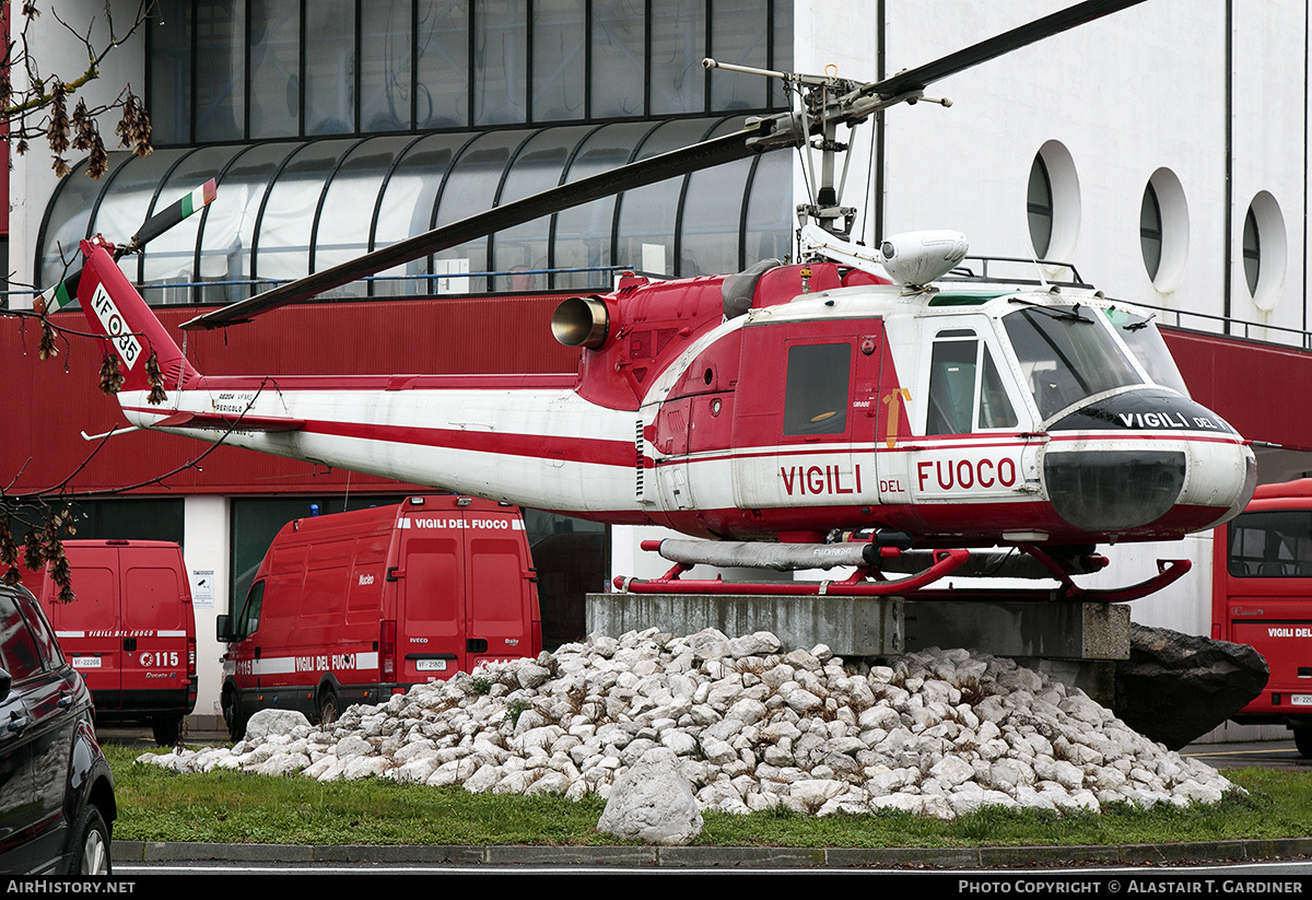
<path fill-rule="evenodd" d="M 203 213 L 119 265 L 151 303 L 230 303 L 737 126 L 736 118 L 677 119 L 117 153 L 100 181 L 79 165 L 60 182 L 37 272 L 42 285 L 54 283 L 79 239 L 126 241 L 154 211 L 214 177 L 218 198 Z M 737 272 L 790 252 L 791 178 L 789 153 L 765 153 L 543 216 L 331 297 L 604 287 L 614 268 Z"/>

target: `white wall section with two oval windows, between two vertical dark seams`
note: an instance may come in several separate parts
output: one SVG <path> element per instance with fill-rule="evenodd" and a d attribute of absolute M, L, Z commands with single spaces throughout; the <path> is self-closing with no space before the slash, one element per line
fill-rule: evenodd
<path fill-rule="evenodd" d="M 998 4 L 954 4 L 954 16 L 888 5 L 888 70 L 897 71 L 1067 4 L 1008 4 L 1008 17 Z M 1212 63 L 1210 72 L 1199 72 L 1199 60 Z M 972 252 L 1031 255 L 1029 174 L 1040 148 L 1057 142 L 1075 177 L 1063 184 L 1050 165 L 1048 256 L 1073 262 L 1109 295 L 1219 315 L 1223 60 L 1221 4 L 1161 0 L 945 79 L 930 92 L 951 97 L 951 109 L 888 113 L 888 230 L 953 227 Z M 1143 192 L 1161 167 L 1179 178 L 1191 214 L 1185 270 L 1165 293 L 1153 289 L 1139 240 Z"/>

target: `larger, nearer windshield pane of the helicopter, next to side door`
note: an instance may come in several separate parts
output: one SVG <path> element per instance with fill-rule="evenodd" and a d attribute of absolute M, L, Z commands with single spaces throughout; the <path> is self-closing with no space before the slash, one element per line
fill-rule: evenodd
<path fill-rule="evenodd" d="M 1002 323 L 1044 420 L 1096 394 L 1144 383 L 1090 307 L 1027 304 Z"/>

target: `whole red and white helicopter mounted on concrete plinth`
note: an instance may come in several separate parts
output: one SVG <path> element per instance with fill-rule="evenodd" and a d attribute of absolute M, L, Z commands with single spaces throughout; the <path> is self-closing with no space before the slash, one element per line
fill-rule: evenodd
<path fill-rule="evenodd" d="M 798 110 L 184 325 L 248 321 L 479 235 L 752 152 L 823 153 L 807 207 L 819 224 L 799 232 L 803 262 L 680 281 L 625 277 L 609 294 L 565 299 L 552 329 L 581 348 L 573 375 L 205 377 L 119 270 L 125 248 L 83 241 L 76 294 L 117 352 L 126 378 L 118 399 L 134 426 L 715 539 L 661 542 L 674 569 L 630 589 L 729 588 L 677 579 L 703 562 L 857 567 L 838 584 L 769 588 L 781 592 L 930 596 L 925 585 L 955 571 L 1055 577 L 1060 596 L 1131 600 L 1187 562 L 1103 593 L 1071 576 L 1106 564 L 1098 543 L 1178 539 L 1237 514 L 1256 483 L 1245 441 L 1189 399 L 1149 315 L 1078 279 L 968 277 L 955 232 L 897 235 L 878 251 L 851 244 L 853 210 L 838 205 L 833 171 L 840 125 L 924 100 L 932 81 L 1136 1 L 1081 3 L 876 84 L 768 73 L 798 89 Z M 142 234 L 203 202 L 155 216 Z M 157 387 L 163 399 L 157 390 L 152 398 Z"/>

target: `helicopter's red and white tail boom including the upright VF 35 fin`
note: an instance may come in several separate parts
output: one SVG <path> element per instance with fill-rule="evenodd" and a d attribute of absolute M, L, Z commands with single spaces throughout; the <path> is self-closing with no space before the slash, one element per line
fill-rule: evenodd
<path fill-rule="evenodd" d="M 538 509 L 649 521 L 634 487 L 640 413 L 580 398 L 575 375 L 206 378 L 104 244 L 81 248 L 77 297 L 118 358 L 118 401 L 133 425 Z M 163 403 L 151 400 L 151 354 Z"/>

